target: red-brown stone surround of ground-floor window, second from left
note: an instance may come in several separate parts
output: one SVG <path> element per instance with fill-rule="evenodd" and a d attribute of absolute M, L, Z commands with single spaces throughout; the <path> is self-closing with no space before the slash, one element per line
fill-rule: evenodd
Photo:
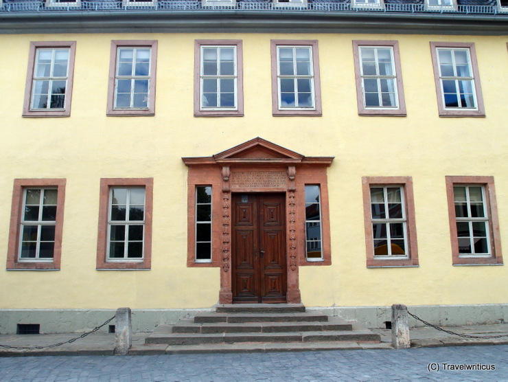
<path fill-rule="evenodd" d="M 100 179 L 99 230 L 97 234 L 97 270 L 150 269 L 152 264 L 153 178 Z M 143 261 L 107 261 L 109 191 L 114 186 L 143 186 L 145 188 L 145 233 Z"/>

